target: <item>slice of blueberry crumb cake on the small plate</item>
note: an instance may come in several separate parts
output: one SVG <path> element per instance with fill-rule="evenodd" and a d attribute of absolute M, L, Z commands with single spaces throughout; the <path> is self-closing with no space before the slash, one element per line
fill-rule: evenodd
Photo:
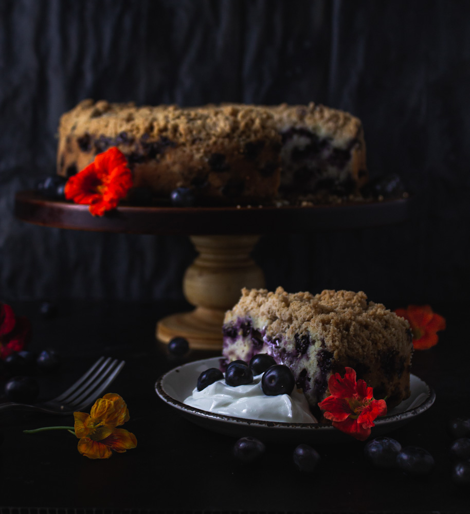
<path fill-rule="evenodd" d="M 223 325 L 225 364 L 272 356 L 293 372 L 311 407 L 329 395 L 332 373 L 353 368 L 393 407 L 410 395 L 409 324 L 364 292 L 287 293 L 242 289 Z"/>

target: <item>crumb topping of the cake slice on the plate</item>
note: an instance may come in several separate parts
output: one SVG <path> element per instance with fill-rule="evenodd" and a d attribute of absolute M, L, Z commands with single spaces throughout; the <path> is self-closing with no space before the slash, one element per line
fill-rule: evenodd
<path fill-rule="evenodd" d="M 243 289 L 240 301 L 228 311 L 226 321 L 233 317 L 255 317 L 267 326 L 271 335 L 310 333 L 323 339 L 324 345 L 336 355 L 358 357 L 376 350 L 396 348 L 410 353 L 412 343 L 407 335 L 409 324 L 381 303 L 367 300 L 363 291 L 324 290 L 287 293 L 282 287 L 275 292 L 266 289 Z"/>

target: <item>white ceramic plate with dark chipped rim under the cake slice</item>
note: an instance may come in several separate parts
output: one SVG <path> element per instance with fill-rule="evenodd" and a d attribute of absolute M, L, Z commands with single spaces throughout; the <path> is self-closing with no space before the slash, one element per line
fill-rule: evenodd
<path fill-rule="evenodd" d="M 162 375 L 155 384 L 157 395 L 168 405 L 177 409 L 184 417 L 209 430 L 245 437 L 248 435 L 277 442 L 339 442 L 351 440 L 351 436 L 332 426 L 318 423 L 280 423 L 259 421 L 214 414 L 189 407 L 183 403 L 193 391 L 197 377 L 208 368 L 218 368 L 220 357 L 188 362 Z M 415 375 L 410 377 L 411 395 L 386 416 L 375 419 L 371 437 L 384 435 L 399 428 L 413 417 L 423 413 L 434 403 L 435 392 Z"/>

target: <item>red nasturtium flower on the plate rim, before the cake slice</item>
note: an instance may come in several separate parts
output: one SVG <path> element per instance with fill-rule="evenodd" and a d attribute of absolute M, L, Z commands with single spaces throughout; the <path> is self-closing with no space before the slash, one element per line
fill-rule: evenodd
<path fill-rule="evenodd" d="M 318 403 L 323 416 L 330 419 L 333 427 L 366 440 L 374 426 L 374 419 L 387 413 L 385 400 L 376 400 L 372 388 L 364 380 L 357 380 L 352 368 L 345 368 L 345 377 L 339 373 L 330 376 L 328 388 L 331 396 Z"/>

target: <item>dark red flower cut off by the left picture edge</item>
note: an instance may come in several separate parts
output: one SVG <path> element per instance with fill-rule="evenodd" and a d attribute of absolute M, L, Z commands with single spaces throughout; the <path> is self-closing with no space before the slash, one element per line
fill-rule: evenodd
<path fill-rule="evenodd" d="M 16 317 L 13 309 L 0 302 L 0 359 L 21 352 L 29 340 L 31 324 L 25 316 Z"/>

